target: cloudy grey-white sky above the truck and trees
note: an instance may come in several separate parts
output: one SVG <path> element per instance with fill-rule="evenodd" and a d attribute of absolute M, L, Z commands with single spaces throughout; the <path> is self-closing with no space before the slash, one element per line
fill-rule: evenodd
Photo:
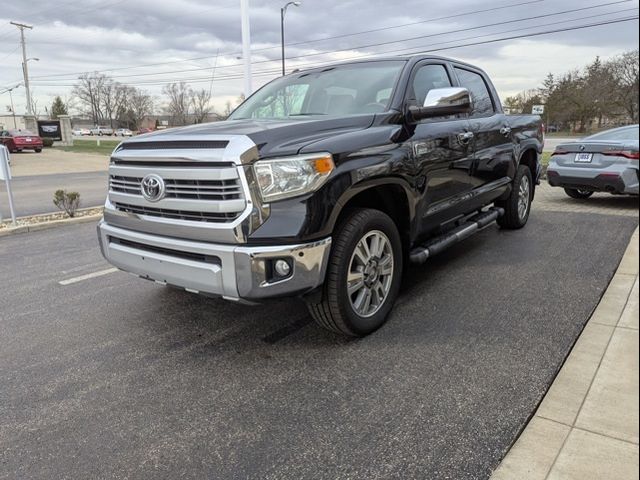
<path fill-rule="evenodd" d="M 279 74 L 286 1 L 249 2 L 255 89 Z M 504 98 L 539 86 L 548 72 L 638 48 L 637 16 L 638 0 L 303 0 L 286 16 L 287 69 L 432 51 L 481 66 Z M 240 0 L 3 2 L 0 92 L 22 82 L 11 20 L 33 25 L 27 55 L 39 58 L 29 61 L 29 72 L 40 113 L 54 95 L 68 97 L 82 72 L 144 89 L 159 108 L 162 85 L 172 81 L 212 88 L 218 111 L 243 91 Z M 526 36 L 556 30 L 565 31 Z M 24 88 L 13 93 L 22 113 Z M 0 94 L 3 113 L 8 104 L 8 94 Z"/>

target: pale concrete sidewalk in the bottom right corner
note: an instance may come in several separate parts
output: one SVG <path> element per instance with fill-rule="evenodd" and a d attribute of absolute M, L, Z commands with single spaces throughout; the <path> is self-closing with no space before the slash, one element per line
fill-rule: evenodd
<path fill-rule="evenodd" d="M 638 229 L 573 350 L 492 480 L 638 476 Z"/>

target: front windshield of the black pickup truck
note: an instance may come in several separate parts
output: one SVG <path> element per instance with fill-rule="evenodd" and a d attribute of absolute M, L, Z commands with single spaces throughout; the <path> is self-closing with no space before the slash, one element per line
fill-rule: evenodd
<path fill-rule="evenodd" d="M 404 63 L 354 63 L 294 73 L 258 90 L 229 120 L 384 112 Z"/>

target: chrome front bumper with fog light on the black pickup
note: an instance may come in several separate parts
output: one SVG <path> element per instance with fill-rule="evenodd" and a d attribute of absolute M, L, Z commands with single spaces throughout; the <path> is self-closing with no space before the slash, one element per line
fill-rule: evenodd
<path fill-rule="evenodd" d="M 98 225 L 100 249 L 121 270 L 195 293 L 256 302 L 306 293 L 324 281 L 331 238 L 283 246 L 221 245 Z M 275 259 L 291 273 L 275 279 Z"/>

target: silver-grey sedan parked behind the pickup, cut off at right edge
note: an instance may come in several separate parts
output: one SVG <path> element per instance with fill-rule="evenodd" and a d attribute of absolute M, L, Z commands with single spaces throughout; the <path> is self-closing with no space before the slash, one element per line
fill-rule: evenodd
<path fill-rule="evenodd" d="M 638 195 L 639 160 L 638 125 L 614 128 L 558 145 L 547 178 L 573 198 L 594 192 Z"/>

